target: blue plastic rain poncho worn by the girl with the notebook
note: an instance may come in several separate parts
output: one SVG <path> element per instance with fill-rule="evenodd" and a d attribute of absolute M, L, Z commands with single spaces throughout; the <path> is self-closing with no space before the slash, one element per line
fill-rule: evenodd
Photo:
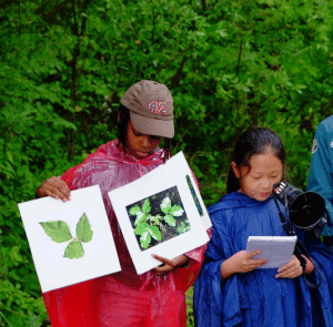
<path fill-rule="evenodd" d="M 195 326 L 333 326 L 333 257 L 313 232 L 296 231 L 323 276 L 319 289 L 309 288 L 303 276 L 275 279 L 276 269 L 255 269 L 221 280 L 223 260 L 245 249 L 249 236 L 285 233 L 272 196 L 259 202 L 239 192 L 230 193 L 209 213 L 212 238 L 194 285 Z M 316 270 L 311 276 L 319 280 Z"/>

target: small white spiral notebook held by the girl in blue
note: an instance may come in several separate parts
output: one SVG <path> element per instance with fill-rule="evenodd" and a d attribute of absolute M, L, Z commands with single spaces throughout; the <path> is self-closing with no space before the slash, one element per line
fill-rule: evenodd
<path fill-rule="evenodd" d="M 292 258 L 296 241 L 297 236 L 249 236 L 246 251 L 260 249 L 253 258 L 269 259 L 259 269 L 280 268 Z"/>

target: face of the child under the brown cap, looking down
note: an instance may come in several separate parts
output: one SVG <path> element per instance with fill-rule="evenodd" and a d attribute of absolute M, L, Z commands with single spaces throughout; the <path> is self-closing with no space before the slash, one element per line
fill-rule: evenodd
<path fill-rule="evenodd" d="M 142 160 L 150 156 L 160 144 L 162 137 L 141 134 L 138 132 L 131 120 L 128 124 L 127 151 L 135 159 Z"/>

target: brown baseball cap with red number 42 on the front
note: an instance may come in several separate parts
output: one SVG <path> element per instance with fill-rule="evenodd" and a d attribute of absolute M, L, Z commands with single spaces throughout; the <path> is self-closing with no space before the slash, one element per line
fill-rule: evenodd
<path fill-rule="evenodd" d="M 173 137 L 173 99 L 164 84 L 142 80 L 132 85 L 120 102 L 129 109 L 138 132 Z"/>

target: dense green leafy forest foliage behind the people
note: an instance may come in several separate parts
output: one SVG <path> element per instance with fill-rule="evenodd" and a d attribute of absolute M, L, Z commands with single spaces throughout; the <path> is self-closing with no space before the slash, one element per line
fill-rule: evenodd
<path fill-rule="evenodd" d="M 281 135 L 305 190 L 315 127 L 332 113 L 332 1 L 2 0 L 0 12 L 0 326 L 47 318 L 18 203 L 115 137 L 119 100 L 139 80 L 171 90 L 173 153 L 208 206 L 251 125 Z"/>

